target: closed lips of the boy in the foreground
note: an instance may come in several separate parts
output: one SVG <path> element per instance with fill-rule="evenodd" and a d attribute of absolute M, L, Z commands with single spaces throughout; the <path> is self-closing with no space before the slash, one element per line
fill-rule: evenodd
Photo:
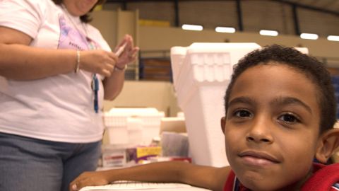
<path fill-rule="evenodd" d="M 245 163 L 254 166 L 262 166 L 273 163 L 280 163 L 278 158 L 262 151 L 243 151 L 239 156 Z"/>

